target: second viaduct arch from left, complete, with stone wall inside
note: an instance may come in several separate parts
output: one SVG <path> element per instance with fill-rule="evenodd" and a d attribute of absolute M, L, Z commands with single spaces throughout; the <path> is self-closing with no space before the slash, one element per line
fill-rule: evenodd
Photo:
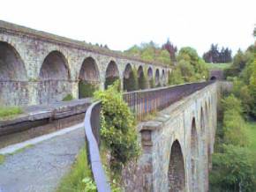
<path fill-rule="evenodd" d="M 72 94 L 68 63 L 59 51 L 52 51 L 45 57 L 39 78 L 41 85 L 38 95 L 41 104 L 63 100 Z"/>

